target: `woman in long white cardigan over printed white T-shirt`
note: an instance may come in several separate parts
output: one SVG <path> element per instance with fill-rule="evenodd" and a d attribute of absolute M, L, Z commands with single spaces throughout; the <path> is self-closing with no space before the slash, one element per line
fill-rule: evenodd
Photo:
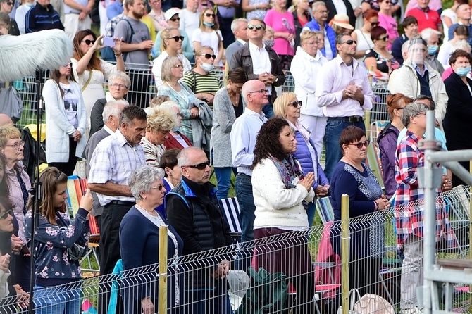
<path fill-rule="evenodd" d="M 72 175 L 77 157 L 87 141 L 87 113 L 79 84 L 71 71 L 72 63 L 51 72 L 42 96 L 46 108 L 46 159 L 66 175 Z"/>

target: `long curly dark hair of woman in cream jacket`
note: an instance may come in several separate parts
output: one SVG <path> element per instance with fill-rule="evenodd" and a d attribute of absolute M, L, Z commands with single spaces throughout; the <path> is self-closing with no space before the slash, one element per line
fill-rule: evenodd
<path fill-rule="evenodd" d="M 253 170 L 263 158 L 268 158 L 268 156 L 272 156 L 279 161 L 287 156 L 279 140 L 280 132 L 282 132 L 285 126 L 288 126 L 287 120 L 277 117 L 269 119 L 262 125 L 256 138 L 254 161 L 252 162 L 251 170 Z"/>

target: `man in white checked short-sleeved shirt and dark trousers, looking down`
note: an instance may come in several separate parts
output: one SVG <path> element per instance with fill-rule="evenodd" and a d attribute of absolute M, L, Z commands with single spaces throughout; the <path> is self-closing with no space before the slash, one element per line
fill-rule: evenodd
<path fill-rule="evenodd" d="M 128 180 L 134 170 L 145 165 L 144 151 L 139 145 L 146 134 L 146 112 L 137 106 L 120 113 L 120 126 L 104 138 L 94 150 L 90 161 L 88 186 L 97 193 L 104 212 L 100 230 L 100 275 L 111 274 L 120 259 L 120 223 L 135 205 Z M 99 313 L 106 313 L 110 287 L 102 285 Z M 108 291 L 107 291 L 108 290 Z"/>

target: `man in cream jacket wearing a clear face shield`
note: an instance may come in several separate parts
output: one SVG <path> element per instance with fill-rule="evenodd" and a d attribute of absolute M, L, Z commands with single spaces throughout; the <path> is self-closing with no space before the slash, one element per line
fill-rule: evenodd
<path fill-rule="evenodd" d="M 391 94 L 402 93 L 413 99 L 418 95 L 430 96 L 436 103 L 435 118 L 442 129 L 448 97 L 441 75 L 425 63 L 427 47 L 423 39 L 410 40 L 409 57 L 390 75 L 388 89 Z"/>

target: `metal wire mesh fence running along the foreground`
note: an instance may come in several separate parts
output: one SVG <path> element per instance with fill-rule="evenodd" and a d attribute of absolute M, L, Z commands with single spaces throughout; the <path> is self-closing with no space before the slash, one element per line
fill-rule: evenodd
<path fill-rule="evenodd" d="M 470 258 L 469 188 L 442 193 L 437 196 L 437 204 L 449 213 L 457 238 L 449 249 L 439 241 L 437 257 Z M 421 201 L 407 206 L 423 210 Z M 341 223 L 327 222 L 170 258 L 167 272 L 154 264 L 38 289 L 36 313 L 78 313 L 77 306 L 82 313 L 95 313 L 97 308 L 99 313 L 106 313 L 108 303 L 115 309 L 111 313 L 158 313 L 159 302 L 166 302 L 168 313 L 337 313 L 342 300 L 348 300 L 347 293 L 342 294 L 346 287 L 356 289 L 351 291 L 355 298 L 352 305 L 346 303 L 356 312 L 372 313 L 375 308 L 386 310 L 382 313 L 392 313 L 390 309 L 397 313 L 402 303 L 413 302 L 416 294 L 402 285 L 402 276 L 409 270 L 402 270 L 394 219 L 392 208 L 350 219 L 347 264 L 339 255 Z M 223 275 L 226 260 L 231 270 Z M 159 280 L 167 282 L 166 289 L 159 291 Z M 467 287 L 454 289 L 453 310 L 472 304 Z M 0 313 L 20 312 L 25 308 L 20 297 L 1 299 Z M 363 301 L 358 303 L 360 297 Z M 441 300 L 442 294 L 438 298 Z"/>

